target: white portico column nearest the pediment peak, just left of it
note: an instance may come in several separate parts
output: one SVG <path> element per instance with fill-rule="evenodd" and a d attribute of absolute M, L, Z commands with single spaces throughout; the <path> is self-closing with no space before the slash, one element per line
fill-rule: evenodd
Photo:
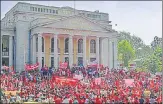
<path fill-rule="evenodd" d="M 70 68 L 73 66 L 73 37 L 69 36 L 69 65 Z"/>

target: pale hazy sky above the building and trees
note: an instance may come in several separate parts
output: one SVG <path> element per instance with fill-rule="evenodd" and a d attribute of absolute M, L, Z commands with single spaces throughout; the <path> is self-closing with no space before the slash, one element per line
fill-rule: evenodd
<path fill-rule="evenodd" d="M 17 2 L 19 1 L 1 1 L 1 19 Z M 23 2 L 74 7 L 74 1 Z M 150 45 L 154 36 L 162 37 L 162 1 L 75 1 L 75 8 L 108 13 L 114 29 L 130 32 L 147 45 Z"/>

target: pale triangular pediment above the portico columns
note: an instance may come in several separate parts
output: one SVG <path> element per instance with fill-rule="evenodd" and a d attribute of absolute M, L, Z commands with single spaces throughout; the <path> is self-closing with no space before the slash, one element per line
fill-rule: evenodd
<path fill-rule="evenodd" d="M 106 29 L 100 24 L 94 23 L 91 20 L 84 18 L 84 17 L 80 17 L 80 16 L 72 16 L 68 18 L 63 18 L 63 19 L 60 19 L 59 21 L 54 21 L 49 24 L 46 24 L 43 27 L 90 30 L 90 31 L 101 31 L 101 32 L 112 31 L 111 29 Z"/>

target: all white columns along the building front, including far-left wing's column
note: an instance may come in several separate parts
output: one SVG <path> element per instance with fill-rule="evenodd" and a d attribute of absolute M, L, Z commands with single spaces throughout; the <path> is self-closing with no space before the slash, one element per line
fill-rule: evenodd
<path fill-rule="evenodd" d="M 57 39 L 58 35 L 54 35 L 54 67 L 58 67 L 58 51 L 57 51 Z M 87 65 L 86 58 L 86 40 L 87 37 L 83 36 L 83 65 Z M 99 48 L 99 37 L 96 37 L 96 60 L 100 63 L 100 52 L 101 50 L 101 63 L 104 65 L 109 65 L 110 68 L 116 68 L 117 66 L 117 42 L 116 39 L 105 38 L 102 44 L 102 49 Z M 42 66 L 42 36 L 38 34 L 38 62 L 40 63 L 40 68 Z M 107 46 L 108 44 L 108 46 Z M 36 63 L 36 35 L 33 36 L 33 63 Z M 107 48 L 109 47 L 109 48 Z M 106 58 L 108 57 L 108 59 Z M 69 65 L 73 65 L 73 36 L 69 36 Z M 13 37 L 9 37 L 9 66 L 13 66 Z"/>

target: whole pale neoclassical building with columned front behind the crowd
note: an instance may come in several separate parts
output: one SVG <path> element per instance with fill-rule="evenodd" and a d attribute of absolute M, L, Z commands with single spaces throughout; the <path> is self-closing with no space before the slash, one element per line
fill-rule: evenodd
<path fill-rule="evenodd" d="M 107 13 L 19 2 L 1 22 L 2 64 L 18 71 L 25 63 L 84 66 L 96 60 L 117 67 L 117 32 Z"/>

